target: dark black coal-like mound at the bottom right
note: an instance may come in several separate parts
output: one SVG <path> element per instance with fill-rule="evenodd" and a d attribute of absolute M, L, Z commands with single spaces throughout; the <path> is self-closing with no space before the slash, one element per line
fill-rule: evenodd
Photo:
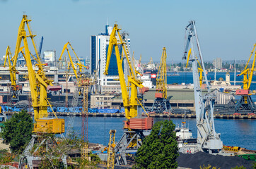
<path fill-rule="evenodd" d="M 244 166 L 245 168 L 252 168 L 253 161 L 247 161 L 240 157 L 211 155 L 204 152 L 198 152 L 196 154 L 180 154 L 177 159 L 178 166 L 184 168 L 200 168 L 203 166 L 211 165 L 216 168 L 229 169 L 235 168 L 235 166 Z"/>

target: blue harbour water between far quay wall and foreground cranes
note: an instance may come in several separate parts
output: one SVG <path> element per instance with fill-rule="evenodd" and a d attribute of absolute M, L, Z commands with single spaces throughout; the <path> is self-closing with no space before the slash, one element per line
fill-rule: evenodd
<path fill-rule="evenodd" d="M 67 123 L 67 117 L 65 122 Z M 81 117 L 75 117 L 74 130 L 81 134 Z M 117 130 L 116 142 L 122 137 L 125 118 L 114 117 L 88 117 L 88 140 L 107 146 L 110 130 Z M 168 118 L 154 118 L 156 123 Z M 182 118 L 170 118 L 175 125 L 181 125 Z M 241 146 L 246 149 L 256 150 L 256 120 L 250 119 L 215 119 L 217 133 L 221 133 L 223 144 L 228 146 Z M 197 137 L 195 118 L 187 118 L 187 126 L 192 130 L 193 137 Z"/>

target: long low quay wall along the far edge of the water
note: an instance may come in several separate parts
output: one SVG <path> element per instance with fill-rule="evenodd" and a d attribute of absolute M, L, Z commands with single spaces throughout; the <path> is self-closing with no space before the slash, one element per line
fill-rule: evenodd
<path fill-rule="evenodd" d="M 18 112 L 6 112 L 6 115 L 13 115 L 14 113 Z M 33 112 L 29 112 L 30 115 L 34 115 Z M 49 113 L 49 115 L 54 115 L 53 113 Z M 56 113 L 57 116 L 69 116 L 70 113 Z M 76 113 L 75 116 L 81 116 L 82 113 Z M 88 113 L 88 116 L 90 117 L 125 117 L 124 113 Z M 142 116 L 146 116 L 145 113 L 142 114 Z M 152 118 L 184 118 L 184 114 L 168 114 L 168 113 L 150 113 L 150 117 Z M 186 118 L 196 118 L 196 115 L 194 113 L 187 114 Z M 256 115 L 233 115 L 233 114 L 214 114 L 214 118 L 225 118 L 225 119 L 256 119 Z"/>

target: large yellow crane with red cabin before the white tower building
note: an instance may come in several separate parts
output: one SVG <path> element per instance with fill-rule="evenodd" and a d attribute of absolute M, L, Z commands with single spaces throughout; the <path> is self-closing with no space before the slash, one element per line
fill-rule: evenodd
<path fill-rule="evenodd" d="M 119 80 L 122 90 L 123 106 L 125 110 L 125 117 L 127 118 L 127 121 L 124 122 L 124 134 L 120 141 L 115 145 L 115 163 L 117 163 L 117 165 L 126 165 L 126 155 L 136 152 L 139 146 L 141 146 L 141 139 L 144 139 L 143 131 L 151 129 L 153 119 L 149 117 L 142 118 L 140 115 L 138 115 L 138 106 L 143 106 L 138 99 L 137 89 L 138 87 L 142 88 L 143 85 L 142 82 L 136 78 L 136 74 L 131 63 L 131 58 L 129 57 L 129 50 L 127 50 L 125 39 L 123 39 L 123 37 L 120 35 L 120 30 L 121 29 L 118 28 L 117 24 L 115 24 L 112 29 L 104 74 L 108 74 L 107 70 L 110 66 L 110 58 L 112 56 L 113 49 L 115 49 Z M 123 54 L 123 56 L 120 53 Z M 124 60 L 126 60 L 128 65 L 127 77 L 124 76 Z M 136 122 L 142 123 L 142 121 L 148 121 L 150 125 L 143 127 L 135 125 Z"/>

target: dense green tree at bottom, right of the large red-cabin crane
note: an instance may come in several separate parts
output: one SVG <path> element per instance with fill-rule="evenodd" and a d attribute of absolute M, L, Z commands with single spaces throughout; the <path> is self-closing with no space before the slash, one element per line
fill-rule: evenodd
<path fill-rule="evenodd" d="M 151 134 L 146 137 L 135 157 L 138 168 L 178 168 L 178 143 L 171 120 L 153 125 Z"/>

